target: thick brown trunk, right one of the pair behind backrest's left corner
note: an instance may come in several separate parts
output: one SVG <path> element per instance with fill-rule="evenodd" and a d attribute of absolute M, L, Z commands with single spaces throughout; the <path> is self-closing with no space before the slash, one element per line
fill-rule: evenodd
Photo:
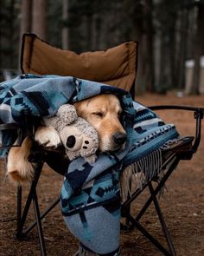
<path fill-rule="evenodd" d="M 32 32 L 42 39 L 46 39 L 46 8 L 47 0 L 33 1 Z"/>

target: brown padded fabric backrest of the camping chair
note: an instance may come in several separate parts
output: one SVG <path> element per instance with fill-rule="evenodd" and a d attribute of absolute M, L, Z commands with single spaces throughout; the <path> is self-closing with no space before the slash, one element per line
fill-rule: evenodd
<path fill-rule="evenodd" d="M 137 42 L 77 54 L 24 34 L 21 69 L 23 74 L 75 76 L 131 91 L 137 75 Z"/>

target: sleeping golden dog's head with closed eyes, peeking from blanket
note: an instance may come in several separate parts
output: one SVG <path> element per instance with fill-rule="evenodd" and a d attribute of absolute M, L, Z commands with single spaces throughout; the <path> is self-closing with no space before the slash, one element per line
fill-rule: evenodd
<path fill-rule="evenodd" d="M 117 96 L 97 95 L 74 103 L 74 107 L 77 114 L 98 132 L 100 151 L 124 149 L 127 136 L 119 121 L 122 108 Z"/>

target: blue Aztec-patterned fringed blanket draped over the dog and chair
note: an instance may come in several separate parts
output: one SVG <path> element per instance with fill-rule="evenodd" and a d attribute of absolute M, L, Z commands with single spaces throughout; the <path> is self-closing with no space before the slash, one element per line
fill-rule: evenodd
<path fill-rule="evenodd" d="M 127 133 L 123 151 L 100 153 L 97 161 L 72 161 L 61 187 L 61 212 L 70 231 L 80 240 L 80 254 L 90 250 L 99 255 L 119 255 L 120 186 L 126 167 L 143 172 L 149 181 L 161 171 L 161 151 L 179 135 L 173 124 L 165 124 L 149 108 L 118 88 L 98 82 L 57 75 L 20 75 L 0 84 L 0 122 L 25 124 L 31 116 L 53 116 L 65 103 L 93 95 L 118 95 Z M 2 146 L 16 141 L 12 130 L 2 132 Z M 6 156 L 8 148 L 0 154 Z"/>

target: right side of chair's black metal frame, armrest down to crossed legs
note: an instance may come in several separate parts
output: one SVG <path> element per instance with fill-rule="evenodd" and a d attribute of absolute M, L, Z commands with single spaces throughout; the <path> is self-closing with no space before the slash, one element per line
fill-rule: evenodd
<path fill-rule="evenodd" d="M 170 174 L 175 170 L 175 167 L 182 160 L 190 160 L 193 154 L 197 151 L 197 148 L 201 141 L 201 120 L 203 119 L 204 108 L 193 108 L 193 107 L 185 107 L 185 106 L 153 106 L 150 107 L 152 110 L 163 110 L 163 109 L 180 109 L 180 110 L 188 110 L 194 112 L 194 118 L 196 120 L 196 130 L 194 136 L 184 137 L 182 141 L 182 145 L 175 148 L 169 149 L 171 150 L 171 154 L 166 161 L 163 161 L 163 169 L 166 169 L 168 166 L 168 170 L 163 175 L 163 179 L 159 181 L 156 188 L 152 186 L 153 181 L 149 181 L 145 184 L 143 189 L 137 188 L 137 190 L 131 195 L 131 197 L 126 200 L 122 206 L 122 216 L 126 218 L 126 223 L 129 226 L 127 228 L 132 228 L 133 226 L 137 227 L 137 229 L 143 233 L 143 235 L 150 240 L 150 242 L 156 246 L 156 248 L 163 253 L 163 255 L 172 255 L 175 256 L 175 247 L 173 245 L 169 230 L 167 228 L 166 222 L 163 217 L 163 213 L 161 207 L 159 206 L 159 202 L 156 198 L 156 195 L 160 192 L 160 190 L 165 185 L 165 182 L 169 179 Z M 193 143 L 194 141 L 194 143 Z M 136 217 L 133 217 L 131 214 L 131 203 L 133 200 L 137 199 L 137 196 L 143 192 L 144 189 L 149 188 L 150 197 L 146 200 L 142 209 L 139 213 L 137 213 Z M 142 218 L 143 214 L 146 212 L 147 208 L 150 207 L 150 204 L 153 202 L 154 207 L 156 209 L 156 214 L 160 221 L 160 224 L 163 228 L 163 234 L 167 241 L 167 245 L 169 250 L 167 250 L 158 240 L 156 240 L 139 222 Z M 130 225 L 131 223 L 131 225 Z"/>

